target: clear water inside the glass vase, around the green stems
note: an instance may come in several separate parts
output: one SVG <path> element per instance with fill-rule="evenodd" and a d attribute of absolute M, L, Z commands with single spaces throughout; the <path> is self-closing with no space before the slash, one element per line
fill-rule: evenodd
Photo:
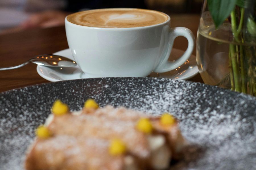
<path fill-rule="evenodd" d="M 255 59 L 256 46 L 255 44 L 234 42 L 233 37 L 230 37 L 229 28 L 224 25 L 216 30 L 214 25 L 199 26 L 196 46 L 199 72 L 206 84 L 232 88 L 234 86 L 232 85 L 232 83 L 234 84 L 233 68 L 230 63 L 230 54 L 232 54 L 232 57 L 236 58 L 238 67 L 238 76 L 235 78 L 238 79 L 239 84 L 244 84 L 247 89 L 251 76 L 253 76 L 248 75 L 250 74 L 248 68 L 251 68 L 250 65 L 255 66 L 252 60 Z M 234 47 L 233 53 L 230 53 L 230 46 Z M 240 86 L 242 88 L 242 85 Z"/>

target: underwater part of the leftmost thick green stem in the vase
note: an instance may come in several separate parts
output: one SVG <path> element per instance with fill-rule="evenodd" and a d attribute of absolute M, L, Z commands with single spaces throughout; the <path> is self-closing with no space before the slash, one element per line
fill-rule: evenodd
<path fill-rule="evenodd" d="M 236 59 L 236 45 L 229 44 L 229 50 L 230 50 L 230 58 L 231 58 L 233 76 L 234 76 L 235 91 L 241 92 L 241 86 L 239 83 L 239 71 L 238 71 L 238 65 L 237 65 L 237 59 Z"/>

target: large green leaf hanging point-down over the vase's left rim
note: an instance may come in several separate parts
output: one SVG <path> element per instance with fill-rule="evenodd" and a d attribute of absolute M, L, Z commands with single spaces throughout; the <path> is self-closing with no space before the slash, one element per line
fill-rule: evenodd
<path fill-rule="evenodd" d="M 208 9 L 215 27 L 218 28 L 236 6 L 236 0 L 208 0 Z"/>

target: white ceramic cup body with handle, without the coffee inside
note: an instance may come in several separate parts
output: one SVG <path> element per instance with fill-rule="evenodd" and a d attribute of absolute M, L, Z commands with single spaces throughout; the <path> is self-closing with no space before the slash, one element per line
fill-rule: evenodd
<path fill-rule="evenodd" d="M 69 48 L 84 72 L 82 77 L 145 77 L 152 71 L 176 69 L 191 56 L 195 37 L 188 28 L 169 25 L 170 16 L 157 25 L 132 28 L 81 26 L 65 18 Z M 176 61 L 169 62 L 178 36 L 188 40 L 187 50 Z"/>

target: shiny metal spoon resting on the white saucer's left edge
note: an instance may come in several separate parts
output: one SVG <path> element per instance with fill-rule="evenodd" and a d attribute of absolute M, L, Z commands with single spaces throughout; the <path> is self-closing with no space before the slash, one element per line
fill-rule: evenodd
<path fill-rule="evenodd" d="M 17 69 L 17 68 L 23 67 L 24 65 L 27 65 L 28 63 L 34 63 L 37 65 L 43 65 L 47 67 L 75 67 L 77 65 L 75 61 L 68 59 L 66 57 L 53 55 L 53 54 L 45 54 L 45 55 L 36 56 L 20 65 L 16 65 L 12 67 L 0 67 L 0 71 Z"/>

